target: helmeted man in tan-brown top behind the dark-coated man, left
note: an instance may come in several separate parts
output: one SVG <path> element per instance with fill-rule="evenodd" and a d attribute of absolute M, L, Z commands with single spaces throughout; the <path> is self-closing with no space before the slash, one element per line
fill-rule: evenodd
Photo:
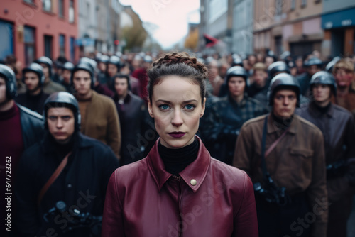
<path fill-rule="evenodd" d="M 79 101 L 81 132 L 102 141 L 114 150 L 117 158 L 121 148 L 121 128 L 114 101 L 98 94 L 94 87 L 94 69 L 86 62 L 80 62 L 72 70 L 71 82 L 75 98 Z"/>

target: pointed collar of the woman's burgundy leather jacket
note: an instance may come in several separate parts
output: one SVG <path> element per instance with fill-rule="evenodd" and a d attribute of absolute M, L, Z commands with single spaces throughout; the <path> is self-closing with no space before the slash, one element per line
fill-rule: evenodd
<path fill-rule="evenodd" d="M 188 165 L 185 170 L 179 173 L 182 180 L 192 189 L 193 192 L 197 192 L 197 189 L 201 186 L 204 178 L 207 175 L 207 170 L 209 169 L 209 164 L 211 162 L 211 156 L 209 152 L 204 147 L 201 139 L 196 136 L 197 140 L 200 143 L 200 148 L 197 154 L 197 158 L 194 162 Z M 155 180 L 155 183 L 158 186 L 158 189 L 163 187 L 165 182 L 168 181 L 173 175 L 164 170 L 163 160 L 161 160 L 158 152 L 158 143 L 160 138 L 155 142 L 155 145 L 151 149 L 151 152 L 147 156 L 148 169 Z M 191 180 L 196 180 L 195 185 L 191 184 Z"/>

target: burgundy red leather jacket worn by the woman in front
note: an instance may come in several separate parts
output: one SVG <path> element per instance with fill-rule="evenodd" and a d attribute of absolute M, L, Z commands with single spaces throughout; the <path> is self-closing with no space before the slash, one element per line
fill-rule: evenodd
<path fill-rule="evenodd" d="M 155 143 L 146 158 L 109 180 L 102 236 L 258 236 L 253 184 L 244 171 L 211 158 L 200 138 L 197 159 L 175 177 Z"/>

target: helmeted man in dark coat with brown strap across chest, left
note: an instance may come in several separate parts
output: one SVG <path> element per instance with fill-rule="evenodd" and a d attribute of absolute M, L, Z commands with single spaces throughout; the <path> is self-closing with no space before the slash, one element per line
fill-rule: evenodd
<path fill-rule="evenodd" d="M 23 153 L 18 168 L 16 236 L 100 233 L 90 225 L 101 222 L 107 183 L 119 166 L 116 155 L 80 133 L 79 104 L 72 94 L 51 94 L 43 116 L 45 137 Z"/>

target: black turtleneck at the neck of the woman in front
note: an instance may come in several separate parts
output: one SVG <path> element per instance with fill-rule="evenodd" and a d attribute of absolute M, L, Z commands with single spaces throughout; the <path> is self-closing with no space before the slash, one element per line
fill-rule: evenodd
<path fill-rule="evenodd" d="M 194 142 L 179 149 L 167 148 L 158 143 L 158 152 L 163 160 L 165 170 L 172 175 L 178 176 L 179 173 L 190 165 L 197 158 L 200 143 L 195 138 Z"/>

